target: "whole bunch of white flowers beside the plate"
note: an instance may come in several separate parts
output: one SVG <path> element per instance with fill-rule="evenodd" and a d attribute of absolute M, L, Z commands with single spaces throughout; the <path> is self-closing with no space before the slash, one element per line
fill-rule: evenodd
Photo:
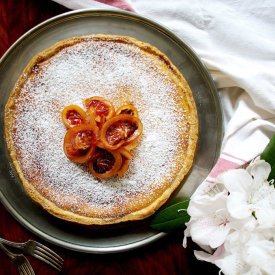
<path fill-rule="evenodd" d="M 197 259 L 224 274 L 275 274 L 275 188 L 270 165 L 257 159 L 244 169 L 221 173 L 191 197 L 184 231 L 202 249 Z"/>

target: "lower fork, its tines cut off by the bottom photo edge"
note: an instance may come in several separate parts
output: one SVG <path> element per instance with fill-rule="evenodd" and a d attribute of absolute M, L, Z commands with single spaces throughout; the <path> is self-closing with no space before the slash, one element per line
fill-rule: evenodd
<path fill-rule="evenodd" d="M 11 262 L 20 274 L 35 275 L 29 261 L 24 255 L 12 253 L 2 243 L 0 243 L 0 249 L 2 249 L 11 258 Z"/>

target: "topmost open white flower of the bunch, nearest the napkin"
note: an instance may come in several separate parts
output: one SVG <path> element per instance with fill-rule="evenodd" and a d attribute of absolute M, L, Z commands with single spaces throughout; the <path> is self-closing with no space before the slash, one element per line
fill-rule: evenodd
<path fill-rule="evenodd" d="M 263 227 L 275 225 L 275 188 L 266 181 L 270 165 L 264 160 L 250 164 L 246 170 L 228 170 L 216 177 L 229 191 L 227 207 L 238 219 L 252 213 Z"/>

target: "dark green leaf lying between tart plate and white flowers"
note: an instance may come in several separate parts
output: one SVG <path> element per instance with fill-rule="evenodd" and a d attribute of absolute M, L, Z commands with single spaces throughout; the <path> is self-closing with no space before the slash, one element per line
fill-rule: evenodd
<path fill-rule="evenodd" d="M 173 204 L 154 214 L 150 226 L 163 232 L 171 232 L 185 227 L 190 216 L 187 214 L 189 199 Z"/>

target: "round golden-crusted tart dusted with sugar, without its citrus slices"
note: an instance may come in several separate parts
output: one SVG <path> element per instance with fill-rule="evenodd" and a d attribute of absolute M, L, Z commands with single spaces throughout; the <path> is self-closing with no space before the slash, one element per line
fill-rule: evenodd
<path fill-rule="evenodd" d="M 143 125 L 122 176 L 98 178 L 63 151 L 61 113 L 91 96 L 115 110 L 132 104 Z M 59 41 L 36 54 L 5 106 L 5 140 L 26 193 L 52 215 L 106 225 L 153 214 L 192 166 L 198 134 L 192 92 L 154 46 L 94 34 Z"/>

